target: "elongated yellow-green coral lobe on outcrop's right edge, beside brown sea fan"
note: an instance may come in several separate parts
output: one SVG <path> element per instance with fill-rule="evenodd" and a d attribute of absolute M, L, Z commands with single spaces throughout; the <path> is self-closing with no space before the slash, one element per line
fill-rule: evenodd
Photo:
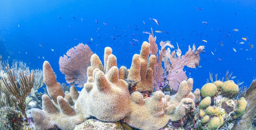
<path fill-rule="evenodd" d="M 238 100 L 238 105 L 237 105 L 237 109 L 236 109 L 236 115 L 234 116 L 234 119 L 238 119 L 239 117 L 241 117 L 246 109 L 247 106 L 247 101 L 244 99 L 244 97 L 241 97 Z"/>

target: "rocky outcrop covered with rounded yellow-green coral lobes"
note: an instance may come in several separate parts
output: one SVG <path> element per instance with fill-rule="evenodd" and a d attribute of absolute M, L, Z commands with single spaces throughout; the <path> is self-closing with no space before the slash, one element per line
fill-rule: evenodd
<path fill-rule="evenodd" d="M 237 85 L 232 80 L 220 82 L 207 83 L 201 88 L 203 99 L 196 111 L 198 117 L 195 115 L 197 129 L 218 129 L 224 124 L 232 123 L 245 111 L 246 100 L 243 97 L 238 101 L 234 99 L 238 94 Z"/>

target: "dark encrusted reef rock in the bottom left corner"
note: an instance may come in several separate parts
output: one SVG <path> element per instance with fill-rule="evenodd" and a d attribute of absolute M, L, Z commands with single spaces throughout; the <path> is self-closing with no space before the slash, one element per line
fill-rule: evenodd
<path fill-rule="evenodd" d="M 10 107 L 2 107 L 0 109 L 0 120 L 0 128 L 2 130 L 23 129 L 22 113 Z"/>

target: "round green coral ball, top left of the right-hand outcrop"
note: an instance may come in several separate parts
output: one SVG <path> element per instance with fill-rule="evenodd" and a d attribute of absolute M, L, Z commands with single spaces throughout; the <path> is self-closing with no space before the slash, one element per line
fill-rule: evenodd
<path fill-rule="evenodd" d="M 213 83 L 205 84 L 201 90 L 200 95 L 202 98 L 213 97 L 217 93 L 217 87 Z"/>

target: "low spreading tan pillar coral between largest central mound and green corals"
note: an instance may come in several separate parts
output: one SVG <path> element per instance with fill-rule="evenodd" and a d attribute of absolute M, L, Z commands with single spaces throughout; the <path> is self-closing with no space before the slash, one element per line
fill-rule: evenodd
<path fill-rule="evenodd" d="M 143 99 L 140 92 L 133 92 L 131 95 L 132 110 L 124 121 L 132 127 L 156 130 L 164 127 L 168 120 L 180 120 L 195 110 L 194 101 L 186 98 L 192 87 L 193 79 L 190 78 L 188 81 L 182 81 L 180 92 L 171 97 L 164 95 L 161 91 L 156 91 L 152 98 Z"/>

